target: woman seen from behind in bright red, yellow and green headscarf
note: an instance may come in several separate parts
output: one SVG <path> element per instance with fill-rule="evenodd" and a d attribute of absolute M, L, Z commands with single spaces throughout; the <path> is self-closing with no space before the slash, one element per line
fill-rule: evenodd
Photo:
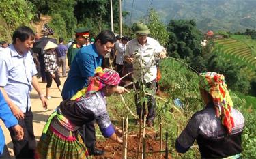
<path fill-rule="evenodd" d="M 201 158 L 240 158 L 244 117 L 233 109 L 224 76 L 200 74 L 199 89 L 205 109 L 190 119 L 176 140 L 176 150 L 185 153 L 197 140 Z"/>

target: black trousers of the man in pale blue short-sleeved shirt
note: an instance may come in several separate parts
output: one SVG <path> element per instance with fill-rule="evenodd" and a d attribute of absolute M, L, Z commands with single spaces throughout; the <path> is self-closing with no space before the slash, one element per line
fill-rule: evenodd
<path fill-rule="evenodd" d="M 16 158 L 34 158 L 35 156 L 35 136 L 33 134 L 33 114 L 31 109 L 24 113 L 24 119 L 18 120 L 18 124 L 23 127 L 24 137 L 18 141 L 14 130 L 9 128 L 12 143 L 14 144 L 14 154 Z"/>

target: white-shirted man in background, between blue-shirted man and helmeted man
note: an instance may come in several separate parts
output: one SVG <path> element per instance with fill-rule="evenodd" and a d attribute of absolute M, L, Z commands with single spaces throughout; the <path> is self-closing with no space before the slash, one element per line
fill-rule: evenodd
<path fill-rule="evenodd" d="M 124 66 L 124 53 L 126 51 L 126 44 L 128 42 L 128 37 L 124 36 L 121 39 L 121 42 L 115 44 L 115 49 L 117 50 L 117 55 L 115 59 L 115 64 L 117 66 L 117 72 L 119 76 L 122 77 L 122 69 Z"/>

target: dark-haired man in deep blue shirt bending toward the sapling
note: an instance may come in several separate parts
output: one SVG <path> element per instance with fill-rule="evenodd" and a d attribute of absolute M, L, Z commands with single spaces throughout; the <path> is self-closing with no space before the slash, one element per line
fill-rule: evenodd
<path fill-rule="evenodd" d="M 89 77 L 94 76 L 94 70 L 102 65 L 104 55 L 113 49 L 116 41 L 115 34 L 111 31 L 102 31 L 95 41 L 94 44 L 81 48 L 74 57 L 63 86 L 61 94 L 63 100 L 72 98 L 77 91 L 87 87 Z M 127 91 L 124 87 L 117 88 L 117 93 L 124 93 L 124 91 Z M 86 124 L 81 134 L 90 155 L 104 154 L 104 151 L 94 147 L 96 143 L 94 122 Z"/>

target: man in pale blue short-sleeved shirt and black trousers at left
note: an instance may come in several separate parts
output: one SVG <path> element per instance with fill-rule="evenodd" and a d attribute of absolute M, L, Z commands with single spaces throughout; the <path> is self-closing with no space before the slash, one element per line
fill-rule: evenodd
<path fill-rule="evenodd" d="M 29 50 L 33 47 L 35 33 L 29 27 L 18 27 L 8 48 L 0 51 L 0 90 L 18 124 L 23 127 L 24 139 L 18 141 L 15 132 L 9 129 L 14 144 L 16 158 L 34 158 L 35 136 L 33 134 L 33 114 L 29 93 L 32 86 L 38 92 L 44 109 L 46 99 L 40 89 L 37 71 Z"/>

